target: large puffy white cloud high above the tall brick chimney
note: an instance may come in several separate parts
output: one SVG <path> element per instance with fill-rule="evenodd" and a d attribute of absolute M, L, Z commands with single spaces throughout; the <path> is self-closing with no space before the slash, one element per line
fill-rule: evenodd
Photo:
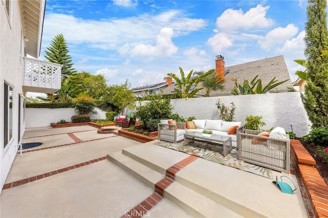
<path fill-rule="evenodd" d="M 216 26 L 222 31 L 269 27 L 273 24 L 272 19 L 265 17 L 269 8 L 259 4 L 245 13 L 241 9 L 227 9 L 216 19 Z"/>

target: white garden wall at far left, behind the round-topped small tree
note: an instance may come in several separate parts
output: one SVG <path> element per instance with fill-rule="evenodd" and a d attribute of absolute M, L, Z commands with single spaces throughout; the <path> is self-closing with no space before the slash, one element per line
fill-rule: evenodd
<path fill-rule="evenodd" d="M 95 110 L 97 114 L 92 114 L 91 119 L 106 119 L 106 112 L 97 107 Z M 74 108 L 26 108 L 26 128 L 50 126 L 61 119 L 71 122 L 74 115 Z"/>

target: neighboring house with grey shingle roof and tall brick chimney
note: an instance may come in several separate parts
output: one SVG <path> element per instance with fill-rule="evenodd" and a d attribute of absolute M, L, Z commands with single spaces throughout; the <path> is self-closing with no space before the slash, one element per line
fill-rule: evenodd
<path fill-rule="evenodd" d="M 282 55 L 237 64 L 230 67 L 225 67 L 224 58 L 221 55 L 218 55 L 215 60 L 215 73 L 216 76 L 220 75 L 221 78 L 224 78 L 224 89 L 213 91 L 211 96 L 232 95 L 231 91 L 235 86 L 235 81 L 233 78 L 237 79 L 237 81 L 242 84 L 244 79 L 247 79 L 249 82 L 251 82 L 256 75 L 258 75 L 258 79 L 262 79 L 263 86 L 268 84 L 269 81 L 274 77 L 276 77 L 278 82 L 288 79 L 288 81 L 278 85 L 275 89 L 273 89 L 272 92 L 287 92 L 287 86 L 292 86 L 291 77 L 288 73 L 288 69 Z M 198 84 L 198 87 L 201 87 L 201 82 Z M 174 93 L 174 88 L 176 88 L 176 84 L 163 90 L 163 94 Z M 204 90 L 201 90 L 195 95 L 195 97 L 201 97 L 204 95 Z"/>

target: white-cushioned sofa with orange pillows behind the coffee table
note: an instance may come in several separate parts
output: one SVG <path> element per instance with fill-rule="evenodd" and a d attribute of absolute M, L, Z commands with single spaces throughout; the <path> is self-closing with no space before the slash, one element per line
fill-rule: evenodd
<path fill-rule="evenodd" d="M 214 134 L 220 136 L 228 136 L 231 138 L 232 146 L 237 147 L 237 133 L 242 128 L 241 122 L 227 122 L 223 120 L 193 120 L 197 128 L 186 129 L 187 133 L 190 132 L 203 132 L 204 129 L 212 130 Z M 228 130 L 232 126 L 238 126 L 236 133 L 228 135 Z"/>

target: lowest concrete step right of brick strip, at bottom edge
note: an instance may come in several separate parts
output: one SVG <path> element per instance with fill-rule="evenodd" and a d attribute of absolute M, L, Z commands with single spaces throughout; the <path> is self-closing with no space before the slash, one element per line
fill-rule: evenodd
<path fill-rule="evenodd" d="M 178 182 L 167 187 L 164 196 L 194 217 L 243 217 Z"/>

